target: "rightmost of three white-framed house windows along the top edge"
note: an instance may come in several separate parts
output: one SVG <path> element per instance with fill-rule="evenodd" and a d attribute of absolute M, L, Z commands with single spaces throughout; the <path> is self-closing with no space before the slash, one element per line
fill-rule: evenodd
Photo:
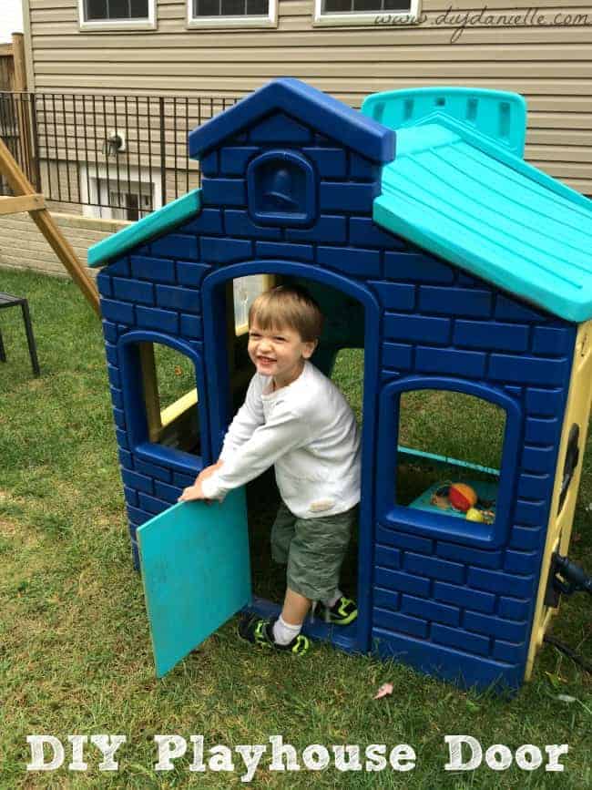
<path fill-rule="evenodd" d="M 413 24 L 419 0 L 314 0 L 314 25 Z"/>

